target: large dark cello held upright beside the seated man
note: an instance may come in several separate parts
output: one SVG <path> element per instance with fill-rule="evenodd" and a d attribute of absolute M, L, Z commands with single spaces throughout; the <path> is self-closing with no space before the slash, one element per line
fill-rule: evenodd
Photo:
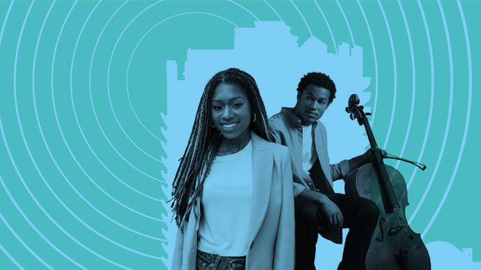
<path fill-rule="evenodd" d="M 395 168 L 384 164 L 383 154 L 367 120 L 370 113 L 364 113 L 359 102 L 358 95 L 351 95 L 346 112 L 351 120 L 357 119 L 359 125 L 364 125 L 375 159 L 374 163 L 353 170 L 346 177 L 344 189 L 348 195 L 372 200 L 379 208 L 379 220 L 366 255 L 366 269 L 429 270 L 431 261 L 425 244 L 420 235 L 409 228 L 406 220 L 405 209 L 409 202 L 404 177 Z M 389 158 L 408 161 L 394 156 Z M 408 162 L 418 166 L 413 161 Z"/>

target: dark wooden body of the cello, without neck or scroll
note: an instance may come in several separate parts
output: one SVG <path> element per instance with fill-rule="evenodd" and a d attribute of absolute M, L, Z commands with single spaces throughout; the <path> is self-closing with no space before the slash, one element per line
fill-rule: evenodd
<path fill-rule="evenodd" d="M 391 166 L 385 166 L 392 187 L 399 199 L 400 212 L 404 214 L 409 205 L 406 182 L 401 173 Z M 379 208 L 379 220 L 372 236 L 371 244 L 366 255 L 367 270 L 429 270 L 431 262 L 429 253 L 422 243 L 419 234 L 413 232 L 409 226 L 397 228 L 400 220 L 393 212 L 388 213 L 385 207 L 385 194 L 374 164 L 366 164 L 354 170 L 346 178 L 345 191 L 347 195 L 361 196 L 376 203 Z"/>

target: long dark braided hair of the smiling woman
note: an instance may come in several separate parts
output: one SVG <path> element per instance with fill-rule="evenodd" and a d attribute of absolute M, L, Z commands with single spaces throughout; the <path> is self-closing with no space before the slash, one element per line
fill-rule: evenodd
<path fill-rule="evenodd" d="M 181 162 L 172 184 L 171 208 L 178 227 L 181 227 L 184 221 L 188 221 L 190 209 L 197 203 L 197 199 L 201 195 L 204 181 L 211 170 L 217 148 L 222 141 L 222 134 L 211 125 L 212 95 L 215 88 L 221 83 L 236 84 L 245 91 L 250 108 L 256 114 L 256 120 L 250 123 L 249 128 L 264 140 L 274 141 L 270 135 L 264 102 L 262 102 L 254 78 L 237 68 L 229 68 L 215 74 L 204 88 L 187 148 L 180 159 Z"/>

